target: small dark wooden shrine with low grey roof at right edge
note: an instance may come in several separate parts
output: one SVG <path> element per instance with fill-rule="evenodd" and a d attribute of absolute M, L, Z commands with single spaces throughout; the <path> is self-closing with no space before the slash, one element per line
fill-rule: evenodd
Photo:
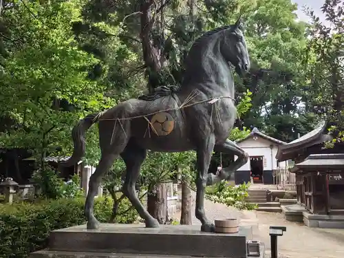
<path fill-rule="evenodd" d="M 344 215 L 344 154 L 311 154 L 290 172 L 297 174 L 297 200 L 319 215 Z"/>

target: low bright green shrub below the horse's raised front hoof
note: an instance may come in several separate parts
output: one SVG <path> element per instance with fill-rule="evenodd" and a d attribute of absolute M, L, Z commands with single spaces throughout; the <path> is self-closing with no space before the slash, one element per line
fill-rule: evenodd
<path fill-rule="evenodd" d="M 226 206 L 233 206 L 239 210 L 252 210 L 256 208 L 255 204 L 250 204 L 245 201 L 248 197 L 248 184 L 239 184 L 239 186 L 230 186 L 228 182 L 219 182 L 206 191 L 208 200 L 226 204 Z"/>

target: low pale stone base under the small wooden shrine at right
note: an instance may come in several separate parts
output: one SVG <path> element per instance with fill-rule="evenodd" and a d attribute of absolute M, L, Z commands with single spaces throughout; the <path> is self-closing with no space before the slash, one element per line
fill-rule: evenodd
<path fill-rule="evenodd" d="M 317 215 L 304 211 L 303 223 L 310 228 L 344 228 L 344 215 Z"/>

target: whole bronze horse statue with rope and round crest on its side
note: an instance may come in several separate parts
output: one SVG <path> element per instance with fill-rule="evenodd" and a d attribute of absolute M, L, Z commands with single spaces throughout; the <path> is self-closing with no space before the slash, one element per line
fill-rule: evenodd
<path fill-rule="evenodd" d="M 204 33 L 193 43 L 186 57 L 182 85 L 169 94 L 146 99 L 129 99 L 97 114 L 90 114 L 72 130 L 74 152 L 66 164 L 75 164 L 85 154 L 85 131 L 98 122 L 101 158 L 89 180 L 85 203 L 87 228 L 98 228 L 94 217 L 94 196 L 105 172 L 119 156 L 127 171 L 123 193 L 146 227 L 159 227 L 136 196 L 135 184 L 147 149 L 162 152 L 197 152 L 195 215 L 202 231 L 215 230 L 204 213 L 206 185 L 226 180 L 246 164 L 248 155 L 228 140 L 237 119 L 235 86 L 230 63 L 242 76 L 250 69 L 250 59 L 239 18 Z M 166 87 L 165 87 L 166 88 Z M 160 89 L 157 89 L 158 91 Z M 162 91 L 163 92 L 163 91 Z M 237 160 L 216 175 L 208 173 L 213 150 L 237 155 Z"/>

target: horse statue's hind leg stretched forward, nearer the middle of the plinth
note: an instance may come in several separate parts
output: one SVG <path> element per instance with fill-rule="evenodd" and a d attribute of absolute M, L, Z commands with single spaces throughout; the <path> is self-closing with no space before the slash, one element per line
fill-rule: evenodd
<path fill-rule="evenodd" d="M 158 228 L 158 220 L 154 219 L 148 213 L 146 208 L 144 208 L 135 191 L 136 182 L 138 180 L 138 176 L 140 175 L 141 165 L 146 158 L 147 151 L 129 142 L 128 146 L 125 148 L 125 151 L 120 155 L 127 166 L 125 183 L 122 187 L 123 193 L 128 197 L 133 207 L 136 208 L 136 211 L 138 211 L 140 217 L 144 219 L 146 227 Z"/>

